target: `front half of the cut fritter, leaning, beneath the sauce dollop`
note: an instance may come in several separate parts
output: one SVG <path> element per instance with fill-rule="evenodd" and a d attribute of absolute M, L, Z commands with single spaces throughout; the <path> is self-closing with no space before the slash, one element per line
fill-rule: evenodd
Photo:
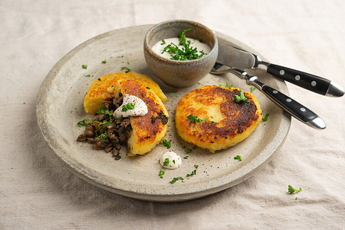
<path fill-rule="evenodd" d="M 164 138 L 169 119 L 168 112 L 159 97 L 139 81 L 118 80 L 114 87 L 115 97 L 119 92 L 124 96 L 134 95 L 146 103 L 148 112 L 145 116 L 129 116 L 132 131 L 127 141 L 128 156 L 145 154 Z"/>

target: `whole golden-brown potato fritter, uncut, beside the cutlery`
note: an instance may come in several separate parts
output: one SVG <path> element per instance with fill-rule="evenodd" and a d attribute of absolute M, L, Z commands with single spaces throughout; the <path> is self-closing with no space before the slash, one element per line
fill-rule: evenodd
<path fill-rule="evenodd" d="M 227 149 L 252 133 L 262 119 L 258 100 L 244 92 L 249 101 L 236 102 L 238 88 L 204 86 L 186 94 L 176 106 L 175 122 L 179 136 L 211 152 Z M 201 122 L 192 122 L 192 114 Z M 206 121 L 207 118 L 207 121 Z"/>

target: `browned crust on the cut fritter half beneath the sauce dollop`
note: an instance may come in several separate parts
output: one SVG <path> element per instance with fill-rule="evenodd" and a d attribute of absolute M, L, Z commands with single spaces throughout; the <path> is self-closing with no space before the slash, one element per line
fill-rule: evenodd
<path fill-rule="evenodd" d="M 148 112 L 145 116 L 134 116 L 130 117 L 132 127 L 136 129 L 136 136 L 138 138 L 137 144 L 145 144 L 154 142 L 156 136 L 161 134 L 164 126 L 160 119 L 156 119 L 152 122 L 152 116 L 157 117 L 162 111 L 168 116 L 164 106 L 160 105 L 157 96 L 148 90 L 144 84 L 134 81 L 122 79 L 119 81 L 122 89 L 122 94 L 134 95 L 143 100 L 146 105 Z"/>

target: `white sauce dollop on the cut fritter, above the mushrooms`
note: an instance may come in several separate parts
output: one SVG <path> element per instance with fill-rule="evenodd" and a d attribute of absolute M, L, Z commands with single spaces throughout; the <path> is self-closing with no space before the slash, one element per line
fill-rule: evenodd
<path fill-rule="evenodd" d="M 122 112 L 122 107 L 128 103 L 135 104 L 134 109 L 127 109 L 127 111 Z M 120 119 L 121 117 L 128 116 L 145 116 L 147 112 L 147 106 L 143 100 L 134 95 L 126 94 L 124 96 L 124 102 L 115 110 L 114 117 L 115 119 Z"/>

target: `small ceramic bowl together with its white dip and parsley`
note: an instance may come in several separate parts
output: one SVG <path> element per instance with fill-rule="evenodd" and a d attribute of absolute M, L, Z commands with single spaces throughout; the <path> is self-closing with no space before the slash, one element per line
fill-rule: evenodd
<path fill-rule="evenodd" d="M 186 37 L 185 46 L 192 51 L 188 48 L 185 50 L 183 41 L 180 44 L 181 39 L 177 36 L 181 33 L 180 38 L 183 40 Z M 168 45 L 170 47 L 165 48 Z M 176 51 L 176 48 L 180 51 Z M 195 48 L 197 52 L 193 51 Z M 186 54 L 181 50 L 186 51 Z M 161 22 L 147 32 L 144 56 L 148 67 L 164 83 L 172 87 L 189 87 L 204 78 L 214 66 L 218 56 L 218 41 L 213 31 L 198 22 Z"/>

